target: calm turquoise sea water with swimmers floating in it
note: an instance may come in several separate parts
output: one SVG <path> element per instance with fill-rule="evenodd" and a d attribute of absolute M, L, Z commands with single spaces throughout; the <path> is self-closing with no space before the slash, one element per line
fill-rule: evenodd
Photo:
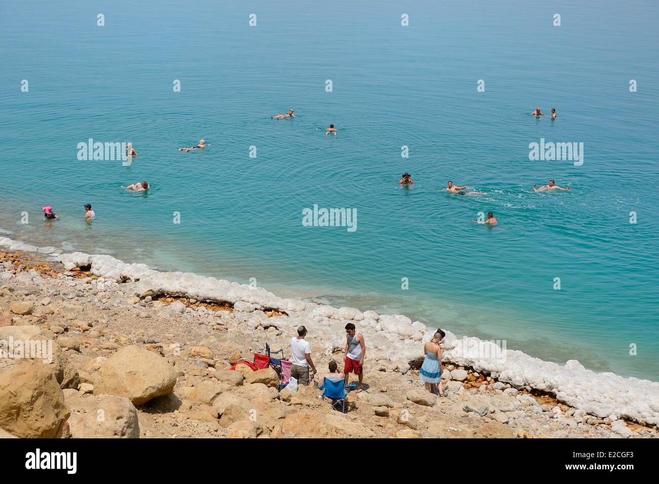
<path fill-rule="evenodd" d="M 656 2 L 2 9 L 0 227 L 13 238 L 254 277 L 659 380 Z M 288 109 L 294 120 L 271 121 Z M 139 155 L 78 161 L 88 138 Z M 200 138 L 203 153 L 177 150 Z M 530 161 L 540 138 L 583 142 L 583 165 Z M 396 183 L 405 171 L 411 188 Z M 573 190 L 530 191 L 549 178 Z M 148 194 L 120 188 L 140 180 Z M 488 194 L 450 196 L 447 180 Z M 357 209 L 357 230 L 303 227 L 314 203 Z M 43 221 L 43 205 L 61 220 Z M 479 211 L 498 227 L 471 223 Z"/>

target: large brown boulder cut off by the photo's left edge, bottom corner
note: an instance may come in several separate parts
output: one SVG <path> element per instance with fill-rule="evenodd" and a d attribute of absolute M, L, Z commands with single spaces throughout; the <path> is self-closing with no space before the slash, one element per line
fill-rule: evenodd
<path fill-rule="evenodd" d="M 69 413 L 49 365 L 26 361 L 0 373 L 0 427 L 11 435 L 59 438 Z"/>

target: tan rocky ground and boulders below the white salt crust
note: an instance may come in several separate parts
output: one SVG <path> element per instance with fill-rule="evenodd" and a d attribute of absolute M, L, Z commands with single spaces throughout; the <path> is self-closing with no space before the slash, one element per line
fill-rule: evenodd
<path fill-rule="evenodd" d="M 55 414 L 45 420 L 40 416 L 40 425 L 28 430 L 22 422 L 32 419 L 34 400 L 24 400 L 24 414 L 18 420 L 16 414 L 7 414 L 8 402 L 0 400 L 0 435 L 8 431 L 5 437 L 659 437 L 652 425 L 614 415 L 590 416 L 547 392 L 518 390 L 467 366 L 444 366 L 447 396 L 438 398 L 419 380 L 422 356 L 417 353 L 409 361 L 399 354 L 384 358 L 378 356 L 377 344 L 367 350 L 364 392 L 349 393 L 349 410 L 342 416 L 319 400 L 320 391 L 313 385 L 277 391 L 279 377 L 272 369 L 254 372 L 238 365 L 229 371 L 241 358 L 250 361 L 252 353 L 264 354 L 268 342 L 272 348 L 287 348 L 295 329 L 289 325 L 299 323 L 291 321 L 291 315 L 256 309 L 244 300 L 218 304 L 167 294 L 140 298 L 132 295 L 134 282 L 112 281 L 91 270 L 83 266 L 69 271 L 40 256 L 0 250 L 0 340 L 18 338 L 26 345 L 28 340 L 43 340 L 54 356 L 42 364 L 35 360 L 43 356 L 5 354 L 0 358 L 0 388 L 26 397 L 30 391 L 47 391 L 55 402 Z M 313 329 L 309 340 L 322 371 L 329 361 L 342 360 L 343 347 L 328 342 L 321 330 Z M 38 375 L 47 367 L 55 372 L 59 387 L 46 390 L 39 383 Z M 106 368 L 133 377 L 117 380 L 114 370 Z M 148 390 L 139 381 L 150 381 Z M 23 387 L 32 390 L 21 393 Z M 112 415 L 106 423 L 96 421 L 101 409 Z"/>

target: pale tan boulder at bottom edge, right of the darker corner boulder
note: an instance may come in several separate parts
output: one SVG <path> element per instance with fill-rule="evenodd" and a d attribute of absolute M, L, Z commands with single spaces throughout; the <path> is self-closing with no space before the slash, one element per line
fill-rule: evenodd
<path fill-rule="evenodd" d="M 139 439 L 137 410 L 128 398 L 103 396 L 69 417 L 74 439 Z"/>

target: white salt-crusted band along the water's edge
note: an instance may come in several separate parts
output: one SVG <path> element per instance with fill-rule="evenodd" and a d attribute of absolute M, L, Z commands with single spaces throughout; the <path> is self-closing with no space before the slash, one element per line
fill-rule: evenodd
<path fill-rule="evenodd" d="M 374 360 L 389 358 L 393 349 L 399 360 L 411 362 L 420 356 L 422 342 L 431 336 L 425 325 L 404 315 L 378 315 L 370 310 L 362 312 L 357 308 L 333 308 L 280 298 L 263 288 L 192 273 L 154 271 L 144 264 L 124 263 L 110 255 L 53 254 L 51 249 L 55 248 L 38 248 L 0 236 L 0 247 L 3 246 L 13 252 L 27 249 L 57 259 L 69 270 L 88 269 L 104 281 L 125 285 L 130 294 L 142 300 L 167 295 L 228 303 L 249 316 L 246 319 L 251 321 L 253 329 L 261 325 L 258 317 L 252 317 L 254 311 L 279 311 L 285 314 L 283 327 L 291 334 L 295 327 L 305 325 L 328 347 L 341 347 L 343 326 L 353 322 L 367 344 L 375 348 L 371 351 Z M 445 363 L 471 367 L 520 390 L 546 392 L 558 402 L 599 418 L 615 416 L 637 423 L 659 424 L 659 383 L 596 373 L 585 369 L 577 360 L 569 360 L 565 365 L 545 362 L 518 350 L 501 348 L 494 342 L 474 336 L 458 339 L 449 329 L 445 331 Z"/>

